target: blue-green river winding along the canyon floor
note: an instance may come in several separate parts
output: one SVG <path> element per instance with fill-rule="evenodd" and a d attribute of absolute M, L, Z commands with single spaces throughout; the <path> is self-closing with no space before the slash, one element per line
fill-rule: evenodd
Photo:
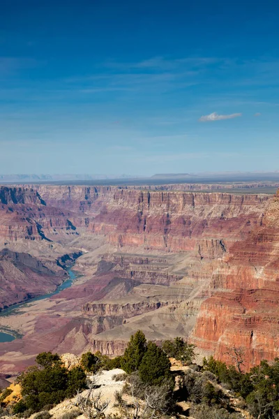
<path fill-rule="evenodd" d="M 27 304 L 29 304 L 30 302 L 38 301 L 38 300 L 45 300 L 45 298 L 49 298 L 52 295 L 58 294 L 58 293 L 60 293 L 60 291 L 63 291 L 66 288 L 69 288 L 73 284 L 73 281 L 76 279 L 76 276 L 75 276 L 74 272 L 72 270 L 70 270 L 69 268 L 68 268 L 68 274 L 69 274 L 69 278 L 66 279 L 66 281 L 64 281 L 61 285 L 59 285 L 56 288 L 56 290 L 53 291 L 53 293 L 40 295 L 39 297 L 31 298 L 31 300 L 28 300 L 28 301 L 25 301 L 25 302 L 20 302 L 19 304 L 14 304 L 13 306 L 9 307 L 8 309 L 4 309 L 4 310 L 0 311 L 0 316 L 11 316 L 12 314 L 15 313 L 15 311 L 17 309 L 19 309 L 20 307 L 27 306 Z M 15 337 L 13 335 L 10 335 L 9 333 L 6 333 L 6 332 L 0 332 L 0 343 L 10 342 L 10 341 L 13 341 L 14 339 L 15 339 Z"/>

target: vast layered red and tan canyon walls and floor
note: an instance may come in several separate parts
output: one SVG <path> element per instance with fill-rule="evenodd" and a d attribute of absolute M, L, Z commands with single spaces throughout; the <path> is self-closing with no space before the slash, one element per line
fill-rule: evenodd
<path fill-rule="evenodd" d="M 160 189 L 0 186 L 0 307 L 52 291 L 83 252 L 71 288 L 0 318 L 24 335 L 0 372 L 45 350 L 117 355 L 139 328 L 226 362 L 243 347 L 246 369 L 278 356 L 279 194 Z"/>

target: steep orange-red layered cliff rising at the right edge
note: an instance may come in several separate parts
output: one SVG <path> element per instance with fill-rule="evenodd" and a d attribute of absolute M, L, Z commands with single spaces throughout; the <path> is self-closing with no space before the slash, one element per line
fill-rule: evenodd
<path fill-rule="evenodd" d="M 218 292 L 204 301 L 193 341 L 227 362 L 229 348 L 243 347 L 245 368 L 279 354 L 279 196 L 262 222 L 236 242 L 213 274 Z"/>

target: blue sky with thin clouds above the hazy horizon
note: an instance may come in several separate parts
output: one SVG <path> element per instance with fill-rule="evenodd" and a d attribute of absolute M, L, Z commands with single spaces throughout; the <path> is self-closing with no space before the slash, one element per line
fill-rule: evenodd
<path fill-rule="evenodd" d="M 1 0 L 1 174 L 279 170 L 277 1 Z"/>

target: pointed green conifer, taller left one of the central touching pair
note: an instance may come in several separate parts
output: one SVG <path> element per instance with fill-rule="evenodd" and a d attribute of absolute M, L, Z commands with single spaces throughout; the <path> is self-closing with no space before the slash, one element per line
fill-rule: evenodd
<path fill-rule="evenodd" d="M 121 360 L 121 367 L 127 374 L 137 371 L 146 353 L 146 338 L 142 330 L 137 330 L 130 341 Z"/>

